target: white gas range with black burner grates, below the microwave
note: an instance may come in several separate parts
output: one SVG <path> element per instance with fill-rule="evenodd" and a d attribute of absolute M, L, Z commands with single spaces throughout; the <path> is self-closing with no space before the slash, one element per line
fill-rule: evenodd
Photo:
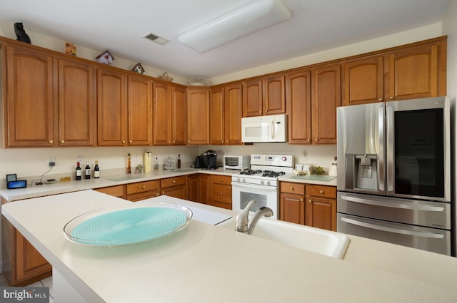
<path fill-rule="evenodd" d="M 272 217 L 278 219 L 278 177 L 292 172 L 292 155 L 251 155 L 251 169 L 231 177 L 232 209 L 241 211 L 249 201 L 256 200 L 252 211 L 270 207 Z"/>

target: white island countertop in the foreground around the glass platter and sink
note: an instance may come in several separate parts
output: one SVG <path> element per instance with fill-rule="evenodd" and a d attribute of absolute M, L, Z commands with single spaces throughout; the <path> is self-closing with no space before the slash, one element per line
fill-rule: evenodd
<path fill-rule="evenodd" d="M 161 198 L 166 199 L 154 199 Z M 456 302 L 456 259 L 433 253 L 423 262 L 433 264 L 436 257 L 446 271 L 440 266 L 422 273 L 436 281 L 427 282 L 407 277 L 401 268 L 384 271 L 197 220 L 174 235 L 137 245 L 88 247 L 64 237 L 63 227 L 74 217 L 126 203 L 131 202 L 85 190 L 6 203 L 2 214 L 53 266 L 56 303 Z M 348 257 L 356 256 L 355 250 L 350 244 Z M 416 264 L 415 270 L 420 268 Z M 444 279 L 451 281 L 440 284 Z"/>

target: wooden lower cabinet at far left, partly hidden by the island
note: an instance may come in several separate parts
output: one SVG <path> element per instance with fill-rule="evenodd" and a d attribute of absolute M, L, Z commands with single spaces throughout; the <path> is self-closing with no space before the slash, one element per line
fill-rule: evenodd
<path fill-rule="evenodd" d="M 3 274 L 9 286 L 26 286 L 50 277 L 52 267 L 46 259 L 5 217 L 1 220 Z"/>

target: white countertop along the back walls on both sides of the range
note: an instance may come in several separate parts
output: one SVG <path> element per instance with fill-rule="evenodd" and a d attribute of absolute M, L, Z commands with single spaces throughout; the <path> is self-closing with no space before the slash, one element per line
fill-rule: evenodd
<path fill-rule="evenodd" d="M 23 199 L 30 199 L 32 197 L 43 197 L 45 195 L 57 195 L 66 192 L 76 192 L 79 190 L 91 190 L 96 188 L 105 188 L 108 186 L 114 185 L 123 185 L 129 183 L 136 183 L 148 180 L 156 180 L 162 178 L 171 178 L 177 177 L 180 175 L 192 175 L 196 173 L 206 173 L 214 175 L 233 175 L 239 173 L 239 170 L 226 170 L 224 168 L 219 168 L 217 170 L 199 170 L 194 168 L 181 168 L 177 170 L 159 170 L 151 173 L 141 173 L 141 174 L 131 174 L 130 179 L 129 175 L 109 175 L 103 176 L 98 179 L 91 178 L 89 180 L 72 180 L 68 182 L 58 182 L 54 184 L 43 184 L 43 185 L 33 185 L 27 188 L 17 188 L 14 190 L 0 189 L 1 197 L 4 197 L 6 201 L 16 201 Z M 291 178 L 292 174 L 283 175 L 278 180 L 296 182 L 296 183 L 310 183 L 318 185 L 331 185 L 336 186 L 336 179 L 333 179 L 329 182 L 326 181 L 317 181 L 317 180 L 300 180 Z M 127 178 L 126 180 L 110 180 L 113 178 Z"/>

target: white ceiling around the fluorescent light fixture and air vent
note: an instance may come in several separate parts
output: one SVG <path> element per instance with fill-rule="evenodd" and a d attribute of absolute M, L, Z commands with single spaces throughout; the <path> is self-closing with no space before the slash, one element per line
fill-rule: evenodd
<path fill-rule="evenodd" d="M 441 21 L 449 0 L 281 0 L 291 19 L 206 53 L 179 34 L 253 0 L 2 0 L 0 21 L 181 76 L 221 76 Z M 164 46 L 145 34 L 171 41 Z M 33 38 L 32 38 L 33 43 Z"/>

